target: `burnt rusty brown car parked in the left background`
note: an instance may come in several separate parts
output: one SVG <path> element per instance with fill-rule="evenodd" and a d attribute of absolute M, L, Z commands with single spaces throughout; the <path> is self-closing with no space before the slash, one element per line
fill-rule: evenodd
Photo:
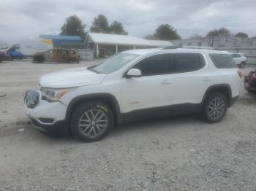
<path fill-rule="evenodd" d="M 79 63 L 80 55 L 78 52 L 71 49 L 53 48 L 45 52 L 34 54 L 33 61 L 37 63 L 59 62 L 59 63 Z"/>

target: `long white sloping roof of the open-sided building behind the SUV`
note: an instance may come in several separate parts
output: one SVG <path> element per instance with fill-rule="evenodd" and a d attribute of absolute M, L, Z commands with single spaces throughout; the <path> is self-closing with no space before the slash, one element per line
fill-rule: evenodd
<path fill-rule="evenodd" d="M 120 34 L 97 34 L 89 33 L 86 36 L 86 42 L 94 42 L 99 44 L 121 44 L 121 45 L 136 45 L 148 47 L 166 47 L 173 43 L 169 41 L 147 40 L 136 36 L 120 35 Z"/>

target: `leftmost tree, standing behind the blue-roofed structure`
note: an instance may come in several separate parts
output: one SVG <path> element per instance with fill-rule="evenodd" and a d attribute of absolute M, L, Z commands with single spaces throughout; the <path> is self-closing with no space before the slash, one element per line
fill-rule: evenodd
<path fill-rule="evenodd" d="M 59 35 L 80 36 L 81 39 L 84 39 L 86 36 L 84 28 L 86 25 L 83 24 L 82 20 L 77 15 L 72 15 L 66 18 Z"/>

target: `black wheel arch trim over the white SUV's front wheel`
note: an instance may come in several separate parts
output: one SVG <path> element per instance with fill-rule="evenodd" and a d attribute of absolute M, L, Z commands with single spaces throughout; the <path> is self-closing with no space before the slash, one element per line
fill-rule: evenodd
<path fill-rule="evenodd" d="M 65 117 L 66 121 L 70 122 L 70 117 L 72 116 L 72 112 L 74 111 L 76 106 L 87 101 L 100 101 L 103 104 L 108 105 L 113 112 L 115 124 L 123 122 L 123 117 L 120 112 L 118 101 L 116 100 L 115 96 L 110 93 L 93 93 L 88 95 L 80 95 L 76 98 L 73 98 L 67 106 L 67 112 Z"/>

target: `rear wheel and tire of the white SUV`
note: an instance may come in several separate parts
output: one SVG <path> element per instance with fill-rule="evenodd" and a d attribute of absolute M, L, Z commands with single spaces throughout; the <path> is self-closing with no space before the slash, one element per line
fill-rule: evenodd
<path fill-rule="evenodd" d="M 219 122 L 227 112 L 227 98 L 222 93 L 208 95 L 203 104 L 203 118 L 207 122 Z"/>

